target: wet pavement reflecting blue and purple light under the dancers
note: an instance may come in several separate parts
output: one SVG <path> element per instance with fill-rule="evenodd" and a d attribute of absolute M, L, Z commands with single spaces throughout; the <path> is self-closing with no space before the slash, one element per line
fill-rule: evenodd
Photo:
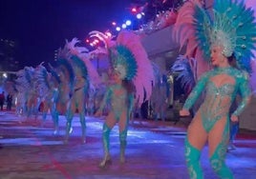
<path fill-rule="evenodd" d="M 111 132 L 112 165 L 99 169 L 103 149 L 101 129 L 104 119 L 86 117 L 87 143 L 81 143 L 79 119 L 74 118 L 69 144 L 64 144 L 65 118 L 60 132 L 53 135 L 48 116 L 25 120 L 13 112 L 0 111 L 0 179 L 187 179 L 183 156 L 186 128 L 179 122 L 136 120 L 130 124 L 126 163 L 119 163 L 118 128 Z M 142 123 L 140 123 L 142 121 Z M 256 131 L 241 130 L 237 149 L 227 152 L 226 163 L 236 179 L 256 176 Z M 210 168 L 207 148 L 203 149 L 205 179 L 217 176 Z"/>

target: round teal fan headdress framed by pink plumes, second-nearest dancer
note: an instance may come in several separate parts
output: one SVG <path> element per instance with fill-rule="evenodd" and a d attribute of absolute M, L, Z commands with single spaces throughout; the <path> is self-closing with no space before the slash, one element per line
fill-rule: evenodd
<path fill-rule="evenodd" d="M 125 46 L 117 45 L 110 50 L 110 54 L 114 70 L 118 71 L 122 79 L 132 80 L 138 70 L 137 61 L 132 51 Z"/>

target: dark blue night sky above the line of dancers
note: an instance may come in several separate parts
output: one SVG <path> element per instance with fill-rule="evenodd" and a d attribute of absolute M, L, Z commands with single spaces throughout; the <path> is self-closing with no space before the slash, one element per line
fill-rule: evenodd
<path fill-rule="evenodd" d="M 133 0 L 0 0 L 0 38 L 15 42 L 20 68 L 51 62 L 65 39 L 83 41 L 91 30 L 113 28 Z"/>

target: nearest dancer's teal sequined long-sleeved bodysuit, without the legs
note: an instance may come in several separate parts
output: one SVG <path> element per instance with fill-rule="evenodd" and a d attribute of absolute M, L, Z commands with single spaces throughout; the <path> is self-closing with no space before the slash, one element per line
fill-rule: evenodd
<path fill-rule="evenodd" d="M 219 80 L 222 78 L 222 80 Z M 220 81 L 220 82 L 218 82 Z M 219 83 L 219 84 L 217 84 Z M 206 89 L 204 102 L 199 109 L 203 120 L 203 128 L 208 132 L 214 124 L 225 117 L 228 119 L 229 108 L 238 91 L 241 92 L 243 101 L 234 115 L 240 115 L 245 109 L 250 96 L 248 77 L 245 72 L 234 68 L 218 68 L 203 75 L 197 86 L 190 93 L 183 109 L 190 109 Z"/>

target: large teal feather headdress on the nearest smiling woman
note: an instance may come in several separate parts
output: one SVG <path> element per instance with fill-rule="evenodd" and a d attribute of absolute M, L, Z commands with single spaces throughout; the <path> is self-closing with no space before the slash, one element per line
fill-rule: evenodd
<path fill-rule="evenodd" d="M 211 46 L 222 45 L 224 56 L 234 54 L 238 67 L 250 71 L 252 50 L 255 50 L 256 24 L 253 10 L 246 9 L 244 1 L 215 0 L 213 19 L 200 7 L 196 7 L 194 18 L 196 39 L 205 58 L 210 58 Z"/>

